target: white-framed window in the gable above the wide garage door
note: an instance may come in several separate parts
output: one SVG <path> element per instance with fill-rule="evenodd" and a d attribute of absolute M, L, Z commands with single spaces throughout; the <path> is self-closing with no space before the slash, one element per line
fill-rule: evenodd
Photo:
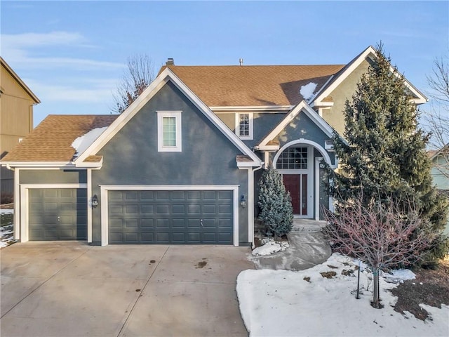
<path fill-rule="evenodd" d="M 159 152 L 181 152 L 181 112 L 157 112 L 157 150 Z"/>

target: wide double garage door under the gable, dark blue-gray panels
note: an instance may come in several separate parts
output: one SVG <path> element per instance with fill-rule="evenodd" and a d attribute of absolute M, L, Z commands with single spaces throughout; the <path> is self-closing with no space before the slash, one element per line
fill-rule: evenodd
<path fill-rule="evenodd" d="M 232 191 L 109 191 L 109 244 L 232 244 Z"/>

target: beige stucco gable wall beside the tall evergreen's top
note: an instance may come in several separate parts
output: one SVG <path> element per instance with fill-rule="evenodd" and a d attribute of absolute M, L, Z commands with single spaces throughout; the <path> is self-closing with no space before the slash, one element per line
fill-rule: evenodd
<path fill-rule="evenodd" d="M 344 103 L 348 99 L 351 101 L 352 95 L 356 91 L 357 83 L 360 81 L 362 74 L 368 70 L 368 62 L 364 60 L 354 72 L 342 81 L 342 83 L 335 88 L 334 91 L 328 95 L 334 105 L 328 109 L 323 109 L 323 119 L 326 120 L 330 126 L 335 128 L 340 135 L 344 134 Z"/>

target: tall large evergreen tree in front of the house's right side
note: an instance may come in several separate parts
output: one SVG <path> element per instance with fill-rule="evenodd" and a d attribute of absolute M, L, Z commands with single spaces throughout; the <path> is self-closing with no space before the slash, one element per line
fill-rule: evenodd
<path fill-rule="evenodd" d="M 373 201 L 413 200 L 431 231 L 440 235 L 427 256 L 441 258 L 448 249 L 442 232 L 448 205 L 432 186 L 431 162 L 426 145 L 429 135 L 417 126 L 418 111 L 410 91 L 382 45 L 363 74 L 351 102 L 344 110 L 347 144 L 334 134 L 340 171 L 334 175 L 333 196 L 338 207 L 362 197 L 368 207 Z M 407 213 L 407 204 L 403 204 Z"/>

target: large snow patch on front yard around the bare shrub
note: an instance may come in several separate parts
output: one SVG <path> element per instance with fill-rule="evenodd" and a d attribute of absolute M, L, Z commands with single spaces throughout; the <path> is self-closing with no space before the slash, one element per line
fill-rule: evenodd
<path fill-rule="evenodd" d="M 371 307 L 373 282 L 368 270 L 361 272 L 360 299 L 356 299 L 356 265 L 351 258 L 334 253 L 325 263 L 300 272 L 241 272 L 236 290 L 250 336 L 449 336 L 449 306 L 422 305 L 431 315 L 425 322 L 408 312 L 401 315 L 391 307 L 397 298 L 387 291 L 397 285 L 383 277 L 380 298 L 384 308 Z M 336 275 L 328 279 L 321 272 Z M 412 277 L 404 276 L 406 272 L 398 274 Z"/>

